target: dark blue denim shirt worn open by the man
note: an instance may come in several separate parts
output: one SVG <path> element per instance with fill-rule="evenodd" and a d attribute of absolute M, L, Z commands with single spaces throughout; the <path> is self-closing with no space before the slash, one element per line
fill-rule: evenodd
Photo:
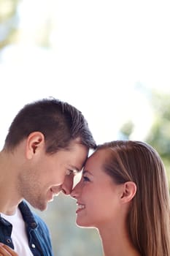
<path fill-rule="evenodd" d="M 19 208 L 23 215 L 23 220 L 26 223 L 28 244 L 33 255 L 53 256 L 50 233 L 45 222 L 30 210 L 26 202 L 21 202 Z M 12 225 L 0 217 L 0 241 L 14 249 L 11 233 Z"/>

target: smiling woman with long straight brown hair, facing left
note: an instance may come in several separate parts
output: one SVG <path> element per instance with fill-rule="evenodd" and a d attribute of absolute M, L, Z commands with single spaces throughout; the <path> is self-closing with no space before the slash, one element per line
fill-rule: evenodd
<path fill-rule="evenodd" d="M 77 225 L 98 229 L 104 256 L 169 256 L 169 188 L 146 143 L 113 141 L 88 158 L 72 197 Z"/>

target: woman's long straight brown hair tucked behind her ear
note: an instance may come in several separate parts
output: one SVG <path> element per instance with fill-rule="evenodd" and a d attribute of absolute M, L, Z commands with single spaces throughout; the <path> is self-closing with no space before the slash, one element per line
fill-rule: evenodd
<path fill-rule="evenodd" d="M 99 145 L 109 149 L 104 171 L 118 183 L 134 181 L 127 225 L 142 256 L 170 256 L 170 203 L 166 171 L 157 151 L 147 143 L 117 140 Z"/>

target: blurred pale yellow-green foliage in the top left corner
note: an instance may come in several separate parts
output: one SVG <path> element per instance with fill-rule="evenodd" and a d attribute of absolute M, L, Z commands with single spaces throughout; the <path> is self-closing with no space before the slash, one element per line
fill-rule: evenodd
<path fill-rule="evenodd" d="M 15 41 L 20 0 L 0 0 L 0 49 Z"/>

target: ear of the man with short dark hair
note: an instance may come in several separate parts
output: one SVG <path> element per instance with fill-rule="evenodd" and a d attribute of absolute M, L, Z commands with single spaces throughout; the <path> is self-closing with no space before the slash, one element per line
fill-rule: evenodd
<path fill-rule="evenodd" d="M 45 146 L 45 136 L 42 132 L 31 132 L 26 140 L 26 158 L 31 159 L 43 146 Z"/>

